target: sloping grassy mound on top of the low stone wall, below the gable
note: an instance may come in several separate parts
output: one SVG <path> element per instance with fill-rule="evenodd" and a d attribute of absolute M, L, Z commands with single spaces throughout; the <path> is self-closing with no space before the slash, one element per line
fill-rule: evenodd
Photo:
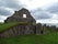
<path fill-rule="evenodd" d="M 9 28 L 12 28 L 14 25 L 18 25 L 18 24 L 27 24 L 25 22 L 10 22 L 10 23 L 4 23 L 4 24 L 0 24 L 0 32 L 9 29 Z"/>

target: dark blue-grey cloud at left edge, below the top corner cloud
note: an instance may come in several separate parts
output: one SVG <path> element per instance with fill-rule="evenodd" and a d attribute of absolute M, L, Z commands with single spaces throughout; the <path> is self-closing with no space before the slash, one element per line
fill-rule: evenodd
<path fill-rule="evenodd" d="M 9 16 L 13 13 L 14 11 L 9 8 L 0 7 L 0 14 L 4 16 Z"/>

